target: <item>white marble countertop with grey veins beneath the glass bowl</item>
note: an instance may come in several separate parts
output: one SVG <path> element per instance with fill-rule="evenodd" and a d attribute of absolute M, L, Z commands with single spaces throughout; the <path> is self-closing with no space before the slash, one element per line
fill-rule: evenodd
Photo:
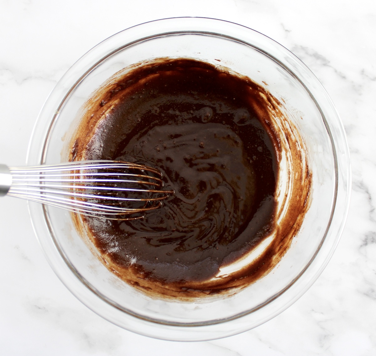
<path fill-rule="evenodd" d="M 293 306 L 256 329 L 209 342 L 127 332 L 76 300 L 33 234 L 27 206 L 0 200 L 2 355 L 376 354 L 376 5 L 374 0 L 0 0 L 0 162 L 23 165 L 44 100 L 108 36 L 149 20 L 203 16 L 270 36 L 323 83 L 343 120 L 352 198 L 338 248 Z"/>

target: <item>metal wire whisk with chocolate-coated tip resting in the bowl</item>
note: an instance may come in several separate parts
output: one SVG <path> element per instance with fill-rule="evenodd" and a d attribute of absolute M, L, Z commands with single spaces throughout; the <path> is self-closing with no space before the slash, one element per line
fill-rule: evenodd
<path fill-rule="evenodd" d="M 146 211 L 158 209 L 162 200 L 173 194 L 173 190 L 162 190 L 161 177 L 156 168 L 118 161 L 24 168 L 0 164 L 0 196 L 10 195 L 93 217 L 135 220 L 143 218 Z"/>

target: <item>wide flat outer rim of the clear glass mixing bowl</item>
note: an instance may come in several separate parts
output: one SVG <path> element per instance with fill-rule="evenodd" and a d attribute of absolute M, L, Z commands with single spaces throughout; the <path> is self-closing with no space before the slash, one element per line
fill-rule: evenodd
<path fill-rule="evenodd" d="M 201 28 L 201 30 L 197 30 L 197 27 Z M 168 28 L 174 28 L 175 30 L 168 31 Z M 161 29 L 161 31 L 157 31 L 156 33 L 156 29 Z M 210 29 L 217 29 L 217 32 L 209 31 Z M 227 35 L 221 33 L 226 31 Z M 281 291 L 280 294 L 268 301 L 267 304 L 272 306 L 272 308 L 268 307 L 268 309 L 270 309 L 268 313 L 259 313 L 258 319 L 256 321 L 252 320 L 255 313 L 262 310 L 264 307 L 264 305 L 262 305 L 258 309 L 246 311 L 223 321 L 217 321 L 211 324 L 201 323 L 200 325 L 161 323 L 158 320 L 145 320 L 140 316 L 137 317 L 129 313 L 127 314 L 126 320 L 124 320 L 124 317 L 121 316 L 121 313 L 124 314 L 123 309 L 101 298 L 100 294 L 94 289 L 89 288 L 89 286 L 84 283 L 82 276 L 80 276 L 74 268 L 72 269 L 72 267 L 69 266 L 67 259 L 64 258 L 64 252 L 60 251 L 58 246 L 53 242 L 52 229 L 50 228 L 50 221 L 44 206 L 29 202 L 29 213 L 35 235 L 52 269 L 62 283 L 92 311 L 124 329 L 141 335 L 174 341 L 205 341 L 235 335 L 252 329 L 287 309 L 308 290 L 324 270 L 337 247 L 344 229 L 347 213 L 349 211 L 351 189 L 350 155 L 344 127 L 334 104 L 321 83 L 293 53 L 278 42 L 255 30 L 224 20 L 201 17 L 177 17 L 154 20 L 132 26 L 110 36 L 89 50 L 59 80 L 45 101 L 33 128 L 27 152 L 27 164 L 36 165 L 44 163 L 49 133 L 52 131 L 56 120 L 58 120 L 59 109 L 69 98 L 73 89 L 79 85 L 85 76 L 95 69 L 100 62 L 117 51 L 123 50 L 141 41 L 160 36 L 186 33 L 206 34 L 232 39 L 255 47 L 278 62 L 282 67 L 293 74 L 306 88 L 308 93 L 311 94 L 312 100 L 321 112 L 332 141 L 336 168 L 336 186 L 331 220 L 329 221 L 321 245 L 306 268 L 289 286 Z M 140 38 L 141 34 L 142 36 Z M 237 36 L 234 34 L 237 34 Z M 119 40 L 123 38 L 126 38 L 127 42 L 119 46 L 118 44 L 121 42 Z M 258 46 L 247 42 L 247 39 L 252 39 L 258 43 Z M 106 48 L 105 56 L 103 56 L 102 47 Z M 284 62 L 280 61 L 277 56 L 275 56 L 275 54 L 279 52 L 284 54 Z M 308 89 L 309 85 L 307 87 L 308 82 L 314 83 L 317 87 L 313 90 L 313 93 L 312 88 Z M 67 91 L 67 88 L 70 89 Z M 317 101 L 317 98 L 320 100 Z M 321 109 L 322 107 L 324 107 L 324 111 Z M 327 117 L 331 118 L 329 122 L 326 120 Z M 334 140 L 332 132 L 335 132 L 336 140 Z M 302 274 L 309 277 L 308 282 L 305 278 L 305 282 L 303 283 L 300 278 Z M 72 278 L 72 276 L 74 276 L 74 278 Z M 88 288 L 91 289 L 89 293 Z M 223 327 L 224 324 L 226 324 L 226 327 Z"/>

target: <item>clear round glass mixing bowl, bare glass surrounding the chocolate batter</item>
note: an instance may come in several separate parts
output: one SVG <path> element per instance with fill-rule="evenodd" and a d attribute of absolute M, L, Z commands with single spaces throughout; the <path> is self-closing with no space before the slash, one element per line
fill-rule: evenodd
<path fill-rule="evenodd" d="M 30 139 L 27 164 L 66 161 L 82 106 L 108 78 L 150 59 L 194 58 L 249 76 L 284 103 L 307 146 L 311 206 L 279 264 L 227 297 L 157 300 L 121 281 L 92 253 L 70 213 L 36 203 L 29 211 L 47 260 L 92 311 L 124 329 L 174 341 L 234 335 L 284 311 L 317 279 L 334 253 L 349 208 L 350 158 L 340 118 L 309 69 L 272 39 L 209 18 L 169 18 L 117 33 L 77 61 L 47 99 Z"/>

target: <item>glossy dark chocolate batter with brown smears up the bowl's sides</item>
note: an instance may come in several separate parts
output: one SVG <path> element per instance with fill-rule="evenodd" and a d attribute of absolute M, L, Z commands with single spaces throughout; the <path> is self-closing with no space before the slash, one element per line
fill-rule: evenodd
<path fill-rule="evenodd" d="M 232 293 L 275 267 L 311 185 L 304 141 L 282 108 L 248 77 L 192 59 L 134 66 L 96 91 L 71 159 L 151 165 L 175 191 L 141 220 L 76 220 L 106 267 L 179 300 Z"/>

